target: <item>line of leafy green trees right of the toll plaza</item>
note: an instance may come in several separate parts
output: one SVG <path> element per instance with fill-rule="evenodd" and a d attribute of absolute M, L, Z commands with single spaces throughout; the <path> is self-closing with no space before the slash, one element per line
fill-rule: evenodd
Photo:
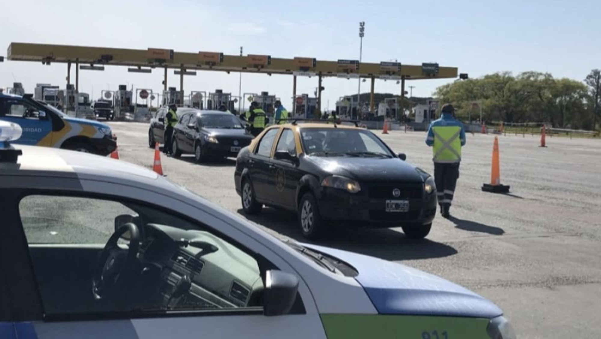
<path fill-rule="evenodd" d="M 436 89 L 435 97 L 453 103 L 462 120 L 469 115 L 472 120 L 478 117 L 481 105 L 484 121 L 593 129 L 601 113 L 601 71 L 592 70 L 584 82 L 540 72 L 494 73 L 443 85 Z"/>

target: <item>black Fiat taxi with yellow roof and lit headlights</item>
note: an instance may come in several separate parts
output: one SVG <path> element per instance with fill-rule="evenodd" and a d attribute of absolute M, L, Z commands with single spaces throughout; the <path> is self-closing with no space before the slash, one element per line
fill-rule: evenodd
<path fill-rule="evenodd" d="M 296 212 L 308 239 L 331 224 L 400 226 L 421 239 L 436 215 L 436 186 L 405 158 L 367 129 L 293 121 L 243 148 L 234 180 L 245 213 L 263 205 Z"/>

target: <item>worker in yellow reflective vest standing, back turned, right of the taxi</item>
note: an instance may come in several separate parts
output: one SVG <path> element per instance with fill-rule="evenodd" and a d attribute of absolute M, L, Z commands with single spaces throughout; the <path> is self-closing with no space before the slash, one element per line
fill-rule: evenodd
<path fill-rule="evenodd" d="M 434 181 L 441 213 L 450 218 L 451 203 L 459 179 L 461 148 L 465 145 L 463 124 L 456 120 L 455 109 L 450 104 L 442 106 L 442 115 L 432 121 L 426 144 L 432 146 Z"/>

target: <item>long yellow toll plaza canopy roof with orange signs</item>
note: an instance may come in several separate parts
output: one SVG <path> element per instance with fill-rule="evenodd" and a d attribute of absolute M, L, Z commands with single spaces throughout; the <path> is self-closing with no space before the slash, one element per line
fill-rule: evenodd
<path fill-rule="evenodd" d="M 361 63 L 357 60 L 325 61 L 315 58 L 272 58 L 270 55 L 224 55 L 219 52 L 174 52 L 170 49 L 121 49 L 64 46 L 56 44 L 11 43 L 8 60 L 41 63 L 79 63 L 91 66 L 130 66 L 177 70 L 321 75 L 388 80 L 457 78 L 457 67 L 435 63 Z"/>

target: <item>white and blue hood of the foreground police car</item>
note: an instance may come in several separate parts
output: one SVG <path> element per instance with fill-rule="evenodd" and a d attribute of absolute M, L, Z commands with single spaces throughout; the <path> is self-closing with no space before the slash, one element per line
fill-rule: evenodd
<path fill-rule="evenodd" d="M 450 281 L 408 266 L 339 249 L 303 244 L 355 267 L 355 279 L 380 314 L 493 318 L 492 302 Z"/>

